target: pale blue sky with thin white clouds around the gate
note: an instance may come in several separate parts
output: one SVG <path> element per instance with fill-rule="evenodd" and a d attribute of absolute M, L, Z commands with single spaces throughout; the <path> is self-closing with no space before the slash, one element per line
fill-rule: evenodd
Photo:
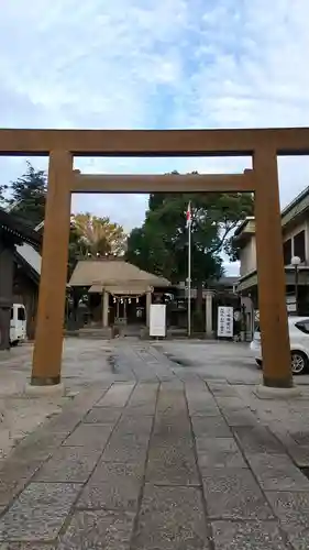
<path fill-rule="evenodd" d="M 10 128 L 309 125 L 308 0 L 1 1 L 0 124 Z M 46 160 L 33 164 L 45 167 Z M 86 172 L 236 172 L 246 160 L 78 160 Z M 25 160 L 0 158 L 1 182 Z M 308 158 L 279 163 L 282 205 Z M 74 198 L 141 223 L 145 197 Z"/>

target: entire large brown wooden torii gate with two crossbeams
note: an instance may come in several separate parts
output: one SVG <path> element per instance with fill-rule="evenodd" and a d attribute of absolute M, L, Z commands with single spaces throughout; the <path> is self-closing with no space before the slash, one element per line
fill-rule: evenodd
<path fill-rule="evenodd" d="M 60 382 L 73 193 L 254 193 L 266 386 L 293 386 L 285 302 L 277 155 L 309 154 L 309 129 L 0 130 L 0 154 L 49 155 L 32 385 Z M 92 176 L 74 156 L 251 156 L 253 170 L 231 175 Z"/>

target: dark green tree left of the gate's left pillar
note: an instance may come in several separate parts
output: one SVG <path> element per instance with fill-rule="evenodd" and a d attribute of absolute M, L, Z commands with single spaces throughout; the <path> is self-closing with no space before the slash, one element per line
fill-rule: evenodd
<path fill-rule="evenodd" d="M 32 227 L 44 220 L 47 177 L 44 170 L 36 170 L 30 162 L 25 174 L 10 185 L 10 211 L 24 218 Z"/>

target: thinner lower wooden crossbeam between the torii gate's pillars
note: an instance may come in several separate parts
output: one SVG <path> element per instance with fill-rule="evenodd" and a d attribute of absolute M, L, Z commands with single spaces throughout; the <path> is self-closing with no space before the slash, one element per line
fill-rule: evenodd
<path fill-rule="evenodd" d="M 213 175 L 92 175 L 75 172 L 71 193 L 229 193 L 254 191 L 253 170 Z"/>

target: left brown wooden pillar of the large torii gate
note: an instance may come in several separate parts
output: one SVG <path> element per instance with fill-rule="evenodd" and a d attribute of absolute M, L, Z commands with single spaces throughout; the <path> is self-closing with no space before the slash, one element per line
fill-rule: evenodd
<path fill-rule="evenodd" d="M 49 154 L 42 271 L 31 384 L 60 382 L 70 221 L 73 156 Z"/>

